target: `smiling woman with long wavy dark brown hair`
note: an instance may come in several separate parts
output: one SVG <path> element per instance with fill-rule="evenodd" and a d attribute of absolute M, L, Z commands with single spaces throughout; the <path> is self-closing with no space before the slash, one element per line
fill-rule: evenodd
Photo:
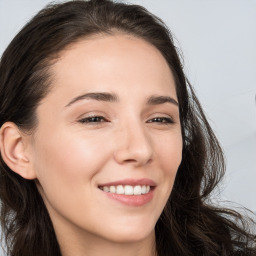
<path fill-rule="evenodd" d="M 0 86 L 8 255 L 255 255 L 242 216 L 209 204 L 222 151 L 144 8 L 45 8 L 4 52 Z"/>

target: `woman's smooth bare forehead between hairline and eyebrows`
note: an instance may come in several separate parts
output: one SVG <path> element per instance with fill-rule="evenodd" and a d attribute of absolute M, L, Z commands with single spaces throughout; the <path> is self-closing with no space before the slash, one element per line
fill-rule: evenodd
<path fill-rule="evenodd" d="M 154 46 L 125 34 L 95 35 L 61 52 L 52 66 L 53 93 L 90 91 L 175 95 L 170 68 Z"/>

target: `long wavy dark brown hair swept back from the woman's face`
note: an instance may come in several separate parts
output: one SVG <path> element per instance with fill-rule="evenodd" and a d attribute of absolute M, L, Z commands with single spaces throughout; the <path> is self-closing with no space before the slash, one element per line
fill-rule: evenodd
<path fill-rule="evenodd" d="M 40 11 L 13 39 L 0 62 L 0 126 L 27 132 L 51 89 L 51 65 L 71 43 L 98 33 L 126 33 L 155 46 L 174 75 L 180 104 L 183 157 L 172 194 L 156 227 L 156 248 L 166 255 L 256 255 L 255 235 L 232 210 L 210 204 L 224 175 L 221 147 L 186 79 L 165 24 L 138 5 L 109 0 L 70 1 Z M 8 255 L 61 255 L 35 181 L 15 174 L 0 158 L 1 225 Z M 253 223 L 253 222 L 251 222 Z"/>

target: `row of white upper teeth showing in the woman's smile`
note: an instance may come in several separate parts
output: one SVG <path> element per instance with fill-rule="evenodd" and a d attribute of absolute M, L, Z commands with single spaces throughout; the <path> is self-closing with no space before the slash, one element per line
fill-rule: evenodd
<path fill-rule="evenodd" d="M 104 192 L 109 192 L 113 194 L 121 194 L 121 195 L 141 195 L 147 194 L 150 191 L 150 186 L 146 185 L 118 185 L 118 186 L 104 186 L 100 187 Z"/>

